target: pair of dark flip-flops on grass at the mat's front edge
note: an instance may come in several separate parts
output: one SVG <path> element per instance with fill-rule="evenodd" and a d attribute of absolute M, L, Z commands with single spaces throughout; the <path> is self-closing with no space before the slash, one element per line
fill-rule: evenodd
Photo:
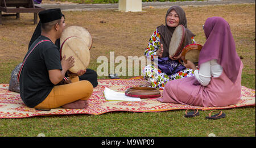
<path fill-rule="evenodd" d="M 185 111 L 184 117 L 195 117 L 195 116 L 199 116 L 200 115 L 198 109 L 193 109 L 193 111 L 188 112 L 189 110 L 192 110 L 192 109 L 187 109 Z M 217 111 L 211 111 L 209 113 L 209 116 L 205 117 L 205 119 L 221 119 L 221 118 L 226 117 L 226 114 L 223 113 L 222 111 L 216 113 L 215 115 L 212 115 L 213 112 L 217 112 Z"/>

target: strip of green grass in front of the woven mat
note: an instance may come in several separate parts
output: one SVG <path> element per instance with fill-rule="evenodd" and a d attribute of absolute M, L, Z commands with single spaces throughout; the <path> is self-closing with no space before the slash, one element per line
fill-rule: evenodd
<path fill-rule="evenodd" d="M 153 113 L 111 112 L 103 115 L 69 115 L 1 119 L 0 136 L 53 137 L 217 137 L 255 136 L 255 107 L 225 109 L 226 117 L 207 120 L 210 111 L 200 116 L 183 117 L 184 111 Z M 11 130 L 10 130 L 11 129 Z"/>

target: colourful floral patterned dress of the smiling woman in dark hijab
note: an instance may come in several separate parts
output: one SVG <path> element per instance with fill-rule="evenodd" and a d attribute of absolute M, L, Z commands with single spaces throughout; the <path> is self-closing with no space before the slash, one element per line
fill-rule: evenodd
<path fill-rule="evenodd" d="M 193 38 L 192 43 L 195 44 L 195 40 Z M 144 55 L 147 58 L 151 58 L 153 61 L 158 49 L 160 49 L 160 34 L 158 30 L 155 29 L 148 43 L 148 47 L 144 52 Z M 164 73 L 164 71 L 158 69 L 158 67 L 155 65 L 147 65 L 143 68 L 142 71 L 144 78 L 151 83 L 151 87 L 158 88 L 159 90 L 163 90 L 165 84 L 168 81 L 194 76 L 192 69 L 183 69 L 172 75 L 167 75 Z"/>

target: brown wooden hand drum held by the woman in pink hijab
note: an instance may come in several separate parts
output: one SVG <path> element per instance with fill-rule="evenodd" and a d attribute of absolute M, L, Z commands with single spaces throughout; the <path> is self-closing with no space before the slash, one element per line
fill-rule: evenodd
<path fill-rule="evenodd" d="M 197 65 L 201 49 L 202 45 L 200 44 L 189 44 L 185 46 L 181 52 L 181 60 L 183 60 L 185 64 L 187 64 L 187 60 L 189 60 Z"/>

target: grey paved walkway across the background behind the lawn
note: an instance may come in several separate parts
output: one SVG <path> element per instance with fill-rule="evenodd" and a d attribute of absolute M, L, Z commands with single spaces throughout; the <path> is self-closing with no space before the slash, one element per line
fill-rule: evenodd
<path fill-rule="evenodd" d="M 174 5 L 226 5 L 235 3 L 254 3 L 255 0 L 208 0 L 208 1 L 184 1 L 184 2 L 142 2 L 142 9 L 150 6 L 153 7 L 170 7 Z M 80 10 L 97 10 L 97 9 L 118 9 L 118 3 L 114 4 L 39 4 L 37 6 L 45 9 L 60 8 L 64 11 L 80 11 Z"/>

